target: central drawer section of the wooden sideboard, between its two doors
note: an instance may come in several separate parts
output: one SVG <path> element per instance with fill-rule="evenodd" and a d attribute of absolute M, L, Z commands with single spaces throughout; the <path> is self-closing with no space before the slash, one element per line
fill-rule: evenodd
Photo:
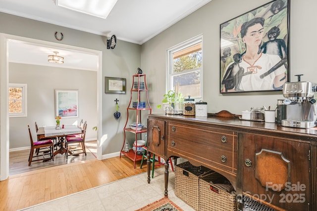
<path fill-rule="evenodd" d="M 168 150 L 236 173 L 236 132 L 175 123 L 168 123 L 167 128 Z"/>

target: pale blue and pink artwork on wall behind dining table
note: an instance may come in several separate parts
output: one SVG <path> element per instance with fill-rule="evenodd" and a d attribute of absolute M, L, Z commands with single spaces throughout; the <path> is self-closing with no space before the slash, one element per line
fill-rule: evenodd
<path fill-rule="evenodd" d="M 78 117 L 78 90 L 55 89 L 55 116 Z"/>

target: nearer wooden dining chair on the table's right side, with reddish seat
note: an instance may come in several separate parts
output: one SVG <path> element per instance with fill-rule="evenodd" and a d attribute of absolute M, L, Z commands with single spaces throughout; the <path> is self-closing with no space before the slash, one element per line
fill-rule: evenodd
<path fill-rule="evenodd" d="M 66 142 L 65 142 L 66 159 L 68 158 L 68 155 L 78 155 L 82 153 L 85 153 L 85 155 L 87 155 L 86 147 L 85 147 L 86 128 L 87 128 L 87 121 L 85 121 L 82 127 L 82 133 L 79 134 L 79 136 L 73 136 L 73 137 L 66 136 Z M 73 144 L 77 144 L 77 145 L 79 144 L 80 148 L 75 147 L 73 149 L 70 149 L 70 146 L 72 146 Z M 80 152 L 77 152 L 77 151 L 80 151 Z M 71 152 L 71 154 L 69 152 Z"/>

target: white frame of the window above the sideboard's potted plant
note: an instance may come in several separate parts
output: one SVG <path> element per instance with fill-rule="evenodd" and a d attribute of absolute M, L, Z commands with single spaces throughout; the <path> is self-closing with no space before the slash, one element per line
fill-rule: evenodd
<path fill-rule="evenodd" d="M 173 87 L 173 84 L 172 81 L 171 81 L 171 77 L 173 76 L 176 76 L 176 75 L 182 75 L 182 74 L 185 74 L 185 73 L 189 73 L 189 72 L 193 72 L 194 70 L 197 70 L 197 69 L 192 69 L 190 71 L 183 71 L 181 73 L 177 73 L 177 74 L 173 74 L 173 53 L 179 51 L 179 50 L 182 50 L 182 49 L 185 49 L 191 45 L 194 45 L 194 44 L 197 44 L 201 42 L 202 43 L 202 52 L 203 52 L 203 55 L 202 55 L 202 67 L 200 67 L 200 90 L 201 90 L 201 97 L 200 98 L 195 98 L 196 101 L 199 101 L 199 100 L 202 100 L 203 99 L 203 94 L 204 94 L 204 90 L 203 90 L 203 66 L 204 66 L 204 50 L 203 50 L 203 35 L 198 35 L 194 38 L 191 38 L 185 42 L 182 42 L 182 43 L 179 43 L 171 48 L 168 48 L 167 49 L 167 59 L 166 59 L 166 93 L 169 91 L 169 90 L 172 90 L 174 87 Z M 194 97 L 193 97 L 194 98 Z"/>

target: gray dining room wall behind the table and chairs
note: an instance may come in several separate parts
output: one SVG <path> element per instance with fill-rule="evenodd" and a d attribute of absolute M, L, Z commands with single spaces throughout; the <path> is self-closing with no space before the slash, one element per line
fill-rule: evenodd
<path fill-rule="evenodd" d="M 63 118 L 72 125 L 87 121 L 86 140 L 97 140 L 97 72 L 28 64 L 9 64 L 9 83 L 27 84 L 27 117 L 10 118 L 10 149 L 30 147 L 27 124 L 36 140 L 38 126 L 55 125 L 55 89 L 78 90 L 78 118 Z"/>

